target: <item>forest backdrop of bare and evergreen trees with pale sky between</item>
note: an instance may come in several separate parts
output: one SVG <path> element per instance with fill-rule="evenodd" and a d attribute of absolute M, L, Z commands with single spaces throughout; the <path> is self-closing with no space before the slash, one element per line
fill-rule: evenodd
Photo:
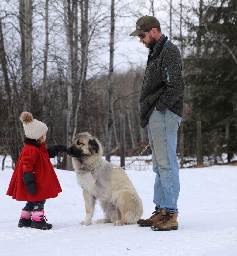
<path fill-rule="evenodd" d="M 107 160 L 122 144 L 127 156 L 138 155 L 148 144 L 139 124 L 148 50 L 129 33 L 143 15 L 159 19 L 183 58 L 180 165 L 195 160 L 201 166 L 204 157 L 209 164 L 233 162 L 236 0 L 1 0 L 0 155 L 17 162 L 22 111 L 47 124 L 48 146 L 90 132 Z"/>

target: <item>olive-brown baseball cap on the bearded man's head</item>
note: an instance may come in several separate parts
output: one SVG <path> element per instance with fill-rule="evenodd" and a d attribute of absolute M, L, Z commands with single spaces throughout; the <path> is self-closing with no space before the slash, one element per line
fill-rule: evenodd
<path fill-rule="evenodd" d="M 160 26 L 160 22 L 154 16 L 142 16 L 137 20 L 136 29 L 130 34 L 130 36 L 136 37 L 146 30 Z"/>

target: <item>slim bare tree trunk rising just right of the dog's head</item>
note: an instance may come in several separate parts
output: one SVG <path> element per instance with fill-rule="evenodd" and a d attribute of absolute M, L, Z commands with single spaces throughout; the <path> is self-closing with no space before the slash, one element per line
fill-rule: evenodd
<path fill-rule="evenodd" d="M 110 16 L 110 55 L 109 55 L 109 75 L 108 75 L 108 107 L 107 107 L 107 136 L 106 136 L 106 160 L 110 162 L 112 130 L 114 123 L 114 0 L 111 0 L 111 16 Z"/>

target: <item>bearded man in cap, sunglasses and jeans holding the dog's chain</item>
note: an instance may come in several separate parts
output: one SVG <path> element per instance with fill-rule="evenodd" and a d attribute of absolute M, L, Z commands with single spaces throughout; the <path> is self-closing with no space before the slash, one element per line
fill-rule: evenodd
<path fill-rule="evenodd" d="M 147 125 L 156 173 L 153 201 L 156 210 L 150 218 L 140 219 L 137 223 L 157 231 L 177 230 L 180 185 L 176 143 L 185 89 L 180 51 L 162 34 L 160 23 L 153 16 L 139 18 L 136 30 L 130 36 L 138 36 L 150 49 L 139 116 L 142 128 Z"/>

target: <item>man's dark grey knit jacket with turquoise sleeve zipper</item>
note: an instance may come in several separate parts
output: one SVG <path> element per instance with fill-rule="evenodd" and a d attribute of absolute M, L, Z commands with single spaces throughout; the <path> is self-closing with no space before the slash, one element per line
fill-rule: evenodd
<path fill-rule="evenodd" d="M 145 128 L 149 117 L 156 110 L 169 108 L 180 117 L 184 111 L 185 83 L 182 60 L 177 46 L 168 41 L 149 59 L 140 97 L 140 124 Z"/>

